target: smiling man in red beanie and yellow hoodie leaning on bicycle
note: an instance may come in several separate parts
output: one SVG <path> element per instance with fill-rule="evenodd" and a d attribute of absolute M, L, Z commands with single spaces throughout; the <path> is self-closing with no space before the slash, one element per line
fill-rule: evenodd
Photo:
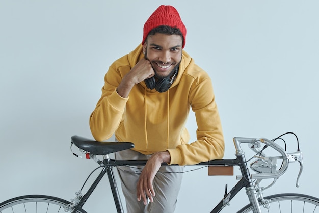
<path fill-rule="evenodd" d="M 119 168 L 127 212 L 173 212 L 183 167 L 224 155 L 224 138 L 211 80 L 182 51 L 186 28 L 177 10 L 160 6 L 144 25 L 142 45 L 115 61 L 90 117 L 98 141 L 115 132 L 135 144 L 117 159 L 148 159 L 144 168 Z M 195 112 L 197 141 L 185 123 Z M 149 202 L 148 202 L 149 200 Z"/>

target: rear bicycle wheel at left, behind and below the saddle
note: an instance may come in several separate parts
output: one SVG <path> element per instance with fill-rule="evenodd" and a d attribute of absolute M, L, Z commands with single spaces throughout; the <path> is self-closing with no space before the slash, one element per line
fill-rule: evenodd
<path fill-rule="evenodd" d="M 0 213 L 62 213 L 65 212 L 64 206 L 69 203 L 64 199 L 47 195 L 25 195 L 0 203 Z M 77 212 L 87 213 L 83 209 Z"/>

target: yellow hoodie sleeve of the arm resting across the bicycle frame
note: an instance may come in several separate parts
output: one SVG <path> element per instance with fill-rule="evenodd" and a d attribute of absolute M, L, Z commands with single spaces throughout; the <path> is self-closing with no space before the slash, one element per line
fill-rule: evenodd
<path fill-rule="evenodd" d="M 224 156 L 222 125 L 211 80 L 207 76 L 192 87 L 189 100 L 195 112 L 197 140 L 168 150 L 171 155 L 170 164 L 193 165 Z"/>

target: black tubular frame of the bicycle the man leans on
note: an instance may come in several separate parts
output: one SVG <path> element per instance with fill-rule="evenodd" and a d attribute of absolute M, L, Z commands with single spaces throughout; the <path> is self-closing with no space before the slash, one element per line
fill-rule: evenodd
<path fill-rule="evenodd" d="M 118 160 L 114 160 L 114 159 L 104 159 L 103 160 L 104 166 L 102 166 L 103 167 L 102 171 L 97 176 L 97 178 L 95 179 L 95 181 L 93 182 L 91 187 L 88 189 L 87 193 L 82 197 L 82 199 L 79 201 L 79 203 L 76 205 L 76 207 L 74 208 L 74 210 L 72 212 L 76 212 L 79 208 L 82 208 L 82 206 L 85 204 L 85 202 L 90 197 L 90 195 L 95 190 L 98 183 L 101 181 L 101 179 L 103 178 L 103 176 L 105 174 L 107 174 L 108 178 L 109 178 L 109 183 L 110 183 L 110 187 L 112 190 L 116 210 L 118 213 L 124 212 L 122 204 L 121 204 L 121 200 L 120 200 L 120 194 L 119 194 L 117 184 L 115 181 L 115 177 L 114 177 L 113 167 L 117 167 L 117 166 L 144 166 L 146 164 L 146 162 L 147 162 L 146 160 L 140 160 L 140 161 L 139 160 L 137 160 L 137 161 L 136 160 L 127 160 L 127 161 L 120 160 L 120 161 L 118 161 Z M 169 166 L 166 163 L 163 163 L 162 165 Z M 216 160 L 212 160 L 212 161 L 201 162 L 201 163 L 195 164 L 193 166 L 239 166 L 241 171 L 242 171 L 242 175 L 243 175 L 242 179 L 240 181 L 238 181 L 237 184 L 228 193 L 225 192 L 224 198 L 216 205 L 216 207 L 214 209 L 211 210 L 210 213 L 220 212 L 226 205 L 224 203 L 224 199 L 227 198 L 227 200 L 230 201 L 239 191 L 241 191 L 241 189 L 243 189 L 244 187 L 246 188 L 246 187 L 250 186 L 249 171 L 248 171 L 248 167 L 245 163 L 245 158 L 243 156 L 237 156 L 236 159 L 216 159 Z"/>

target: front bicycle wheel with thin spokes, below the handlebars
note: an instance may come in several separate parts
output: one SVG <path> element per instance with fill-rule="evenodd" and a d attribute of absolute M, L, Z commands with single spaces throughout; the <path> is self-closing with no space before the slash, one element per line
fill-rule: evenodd
<path fill-rule="evenodd" d="M 319 212 L 319 199 L 304 194 L 296 193 L 284 193 L 276 194 L 264 197 L 264 200 L 269 201 L 270 208 L 264 208 L 261 201 L 259 200 L 259 206 L 262 212 Z M 237 213 L 248 213 L 253 212 L 252 204 L 248 204 L 239 210 Z"/>

